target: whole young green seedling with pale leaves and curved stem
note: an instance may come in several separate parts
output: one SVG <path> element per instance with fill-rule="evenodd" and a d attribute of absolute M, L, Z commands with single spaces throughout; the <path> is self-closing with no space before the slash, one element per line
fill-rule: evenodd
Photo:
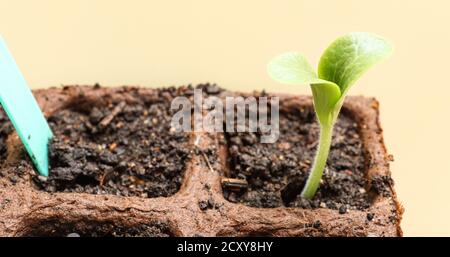
<path fill-rule="evenodd" d="M 322 54 L 317 74 L 300 53 L 275 57 L 268 65 L 270 77 L 285 84 L 309 84 L 320 124 L 319 145 L 301 196 L 314 197 L 331 146 L 333 126 L 350 87 L 374 64 L 392 53 L 380 36 L 355 32 L 336 39 Z"/>

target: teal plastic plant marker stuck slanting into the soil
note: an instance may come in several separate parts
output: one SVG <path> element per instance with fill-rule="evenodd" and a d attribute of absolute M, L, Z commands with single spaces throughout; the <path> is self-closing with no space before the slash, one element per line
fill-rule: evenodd
<path fill-rule="evenodd" d="M 52 131 L 1 36 L 0 103 L 36 169 L 48 176 L 48 142 Z"/>

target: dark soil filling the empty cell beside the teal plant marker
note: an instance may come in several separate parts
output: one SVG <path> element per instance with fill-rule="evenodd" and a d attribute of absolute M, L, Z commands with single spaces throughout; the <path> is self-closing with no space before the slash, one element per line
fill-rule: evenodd
<path fill-rule="evenodd" d="M 48 121 L 50 176 L 37 176 L 48 192 L 86 192 L 158 197 L 176 193 L 190 150 L 186 133 L 171 129 L 175 88 L 158 91 L 158 101 L 73 106 Z"/>

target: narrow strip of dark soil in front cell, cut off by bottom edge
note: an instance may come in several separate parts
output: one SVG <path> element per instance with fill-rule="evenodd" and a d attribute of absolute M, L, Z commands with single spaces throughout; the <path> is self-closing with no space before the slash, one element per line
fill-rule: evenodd
<path fill-rule="evenodd" d="M 21 236 L 38 237 L 169 237 L 172 236 L 165 223 L 116 225 L 113 222 L 85 221 L 65 222 L 48 219 L 30 224 Z"/>

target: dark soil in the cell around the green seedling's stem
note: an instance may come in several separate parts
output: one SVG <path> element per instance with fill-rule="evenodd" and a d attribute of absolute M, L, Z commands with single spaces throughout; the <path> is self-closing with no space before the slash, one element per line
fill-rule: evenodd
<path fill-rule="evenodd" d="M 280 113 L 280 137 L 274 144 L 260 143 L 260 135 L 256 133 L 226 133 L 228 176 L 245 179 L 248 186 L 239 192 L 224 188 L 225 197 L 232 202 L 266 208 L 322 207 L 337 209 L 339 213 L 346 213 L 349 208 L 368 208 L 371 198 L 367 192 L 364 149 L 357 124 L 345 111 L 334 128 L 318 193 L 312 200 L 300 197 L 318 136 L 312 109 Z"/>

